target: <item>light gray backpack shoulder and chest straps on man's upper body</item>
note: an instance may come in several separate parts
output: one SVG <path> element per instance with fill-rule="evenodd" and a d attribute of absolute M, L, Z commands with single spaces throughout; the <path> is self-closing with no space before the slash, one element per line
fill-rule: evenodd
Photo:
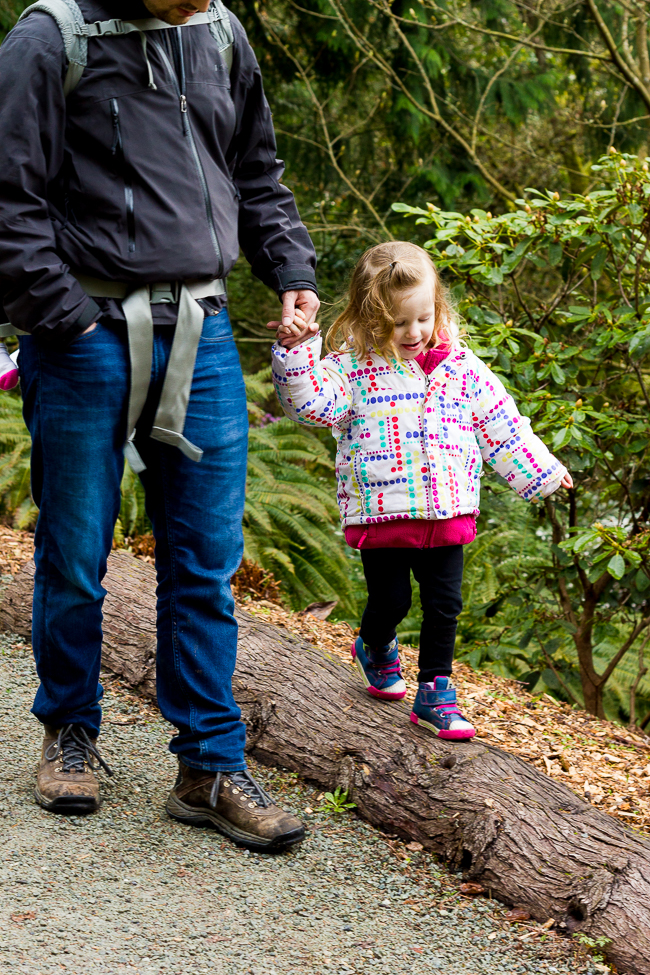
<path fill-rule="evenodd" d="M 63 44 L 65 56 L 68 62 L 68 71 L 63 84 L 63 93 L 67 97 L 71 91 L 77 87 L 81 81 L 84 68 L 88 63 L 88 38 L 89 37 L 108 37 L 130 34 L 137 31 L 142 41 L 147 68 L 149 70 L 149 87 L 155 88 L 153 74 L 147 59 L 147 32 L 151 30 L 169 30 L 171 24 L 166 24 L 157 17 L 145 17 L 142 20 L 98 20 L 93 24 L 87 24 L 84 15 L 77 6 L 75 0 L 37 0 L 22 12 L 18 18 L 19 22 L 40 10 L 42 13 L 49 14 L 56 21 Z M 185 25 L 191 27 L 193 24 L 209 24 L 210 33 L 219 46 L 219 51 L 228 71 L 232 68 L 232 46 L 233 31 L 230 23 L 230 16 L 221 0 L 211 0 L 206 13 L 196 13 Z"/>

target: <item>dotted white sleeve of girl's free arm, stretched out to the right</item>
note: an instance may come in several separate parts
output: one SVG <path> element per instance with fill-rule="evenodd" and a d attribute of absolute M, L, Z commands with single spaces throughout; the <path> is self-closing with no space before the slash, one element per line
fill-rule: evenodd
<path fill-rule="evenodd" d="M 474 401 L 474 432 L 486 464 L 525 501 L 540 501 L 556 491 L 567 473 L 522 416 L 501 380 L 479 359 Z"/>

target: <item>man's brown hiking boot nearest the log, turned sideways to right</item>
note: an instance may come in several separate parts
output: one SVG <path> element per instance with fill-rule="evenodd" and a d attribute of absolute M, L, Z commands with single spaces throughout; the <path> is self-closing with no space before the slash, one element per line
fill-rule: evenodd
<path fill-rule="evenodd" d="M 266 853 L 300 843 L 305 827 L 276 806 L 248 771 L 206 772 L 178 763 L 167 812 L 190 826 L 213 826 L 251 850 Z"/>

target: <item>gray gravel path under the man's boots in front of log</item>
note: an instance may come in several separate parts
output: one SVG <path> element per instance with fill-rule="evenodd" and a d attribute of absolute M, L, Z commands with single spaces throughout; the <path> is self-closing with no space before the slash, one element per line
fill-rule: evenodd
<path fill-rule="evenodd" d="M 251 854 L 170 820 L 170 728 L 112 686 L 102 749 L 116 770 L 86 818 L 32 799 L 40 729 L 29 648 L 0 637 L 0 971 L 138 975 L 534 975 L 606 971 L 563 939 L 457 894 L 435 858 L 327 813 L 287 772 L 254 769 L 309 825 L 302 847 Z M 311 812 L 311 810 L 314 812 Z M 308 810 L 305 812 L 305 810 Z M 522 941 L 521 938 L 525 940 Z"/>

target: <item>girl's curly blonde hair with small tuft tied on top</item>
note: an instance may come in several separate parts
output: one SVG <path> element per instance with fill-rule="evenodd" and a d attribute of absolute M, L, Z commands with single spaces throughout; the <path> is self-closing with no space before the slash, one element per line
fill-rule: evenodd
<path fill-rule="evenodd" d="M 435 303 L 432 343 L 455 338 L 458 326 L 449 292 L 429 254 L 417 244 L 394 240 L 361 255 L 352 272 L 348 303 L 327 333 L 330 352 L 364 358 L 372 348 L 386 359 L 399 358 L 393 340 L 395 309 L 409 291 L 431 282 Z"/>

